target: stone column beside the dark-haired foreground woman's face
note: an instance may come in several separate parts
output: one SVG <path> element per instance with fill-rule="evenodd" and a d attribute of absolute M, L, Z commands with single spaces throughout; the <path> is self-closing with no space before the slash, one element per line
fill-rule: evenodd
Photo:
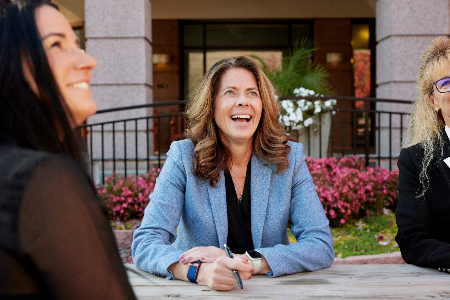
<path fill-rule="evenodd" d="M 91 89 L 98 109 L 123 107 L 153 103 L 153 63 L 152 63 L 152 29 L 150 0 L 85 0 L 85 37 L 86 52 L 97 59 L 98 66 L 93 71 Z M 152 115 L 151 109 L 135 109 L 121 112 L 99 114 L 89 119 L 89 124 Z M 124 172 L 123 158 L 139 158 L 153 154 L 153 135 L 147 139 L 146 121 L 137 124 L 137 141 L 135 121 L 115 124 L 115 147 L 112 147 L 112 124 L 103 126 L 103 145 L 101 126 L 92 128 L 92 157 L 94 160 L 121 158 L 117 170 Z M 126 131 L 124 134 L 124 126 Z M 149 122 L 153 128 L 153 121 Z M 148 149 L 146 143 L 150 142 Z M 90 140 L 88 139 L 88 143 Z M 136 147 L 137 145 L 137 147 Z M 126 153 L 124 147 L 126 146 Z M 89 145 L 90 147 L 90 145 Z M 137 149 L 137 150 L 136 150 Z M 149 150 L 149 151 L 148 151 Z M 103 161 L 105 169 L 111 163 Z M 139 161 L 142 170 L 146 161 Z M 134 174 L 135 161 L 126 166 L 128 174 Z M 102 169 L 102 163 L 96 163 L 95 170 Z M 94 174 L 95 177 L 95 174 Z M 97 178 L 98 179 L 98 176 Z"/>

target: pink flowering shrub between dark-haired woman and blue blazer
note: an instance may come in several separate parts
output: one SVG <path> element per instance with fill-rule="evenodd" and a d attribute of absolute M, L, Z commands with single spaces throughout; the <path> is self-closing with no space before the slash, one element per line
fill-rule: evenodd
<path fill-rule="evenodd" d="M 115 173 L 106 177 L 105 183 L 97 186 L 97 193 L 106 206 L 109 218 L 123 222 L 142 219 L 159 171 L 153 168 L 146 175 L 136 177 Z"/>

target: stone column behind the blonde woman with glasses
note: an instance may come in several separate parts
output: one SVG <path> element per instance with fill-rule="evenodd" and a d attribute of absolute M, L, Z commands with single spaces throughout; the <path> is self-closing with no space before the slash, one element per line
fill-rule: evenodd
<path fill-rule="evenodd" d="M 449 0 L 377 0 L 376 19 L 376 82 L 377 98 L 413 101 L 417 67 L 422 52 L 430 41 L 448 35 L 450 28 Z M 410 105 L 377 103 L 377 110 L 408 112 Z M 403 138 L 408 118 L 403 118 Z M 400 152 L 400 117 L 392 115 L 391 154 Z M 378 125 L 378 120 L 377 120 Z M 381 155 L 389 155 L 389 116 L 381 115 Z M 378 139 L 377 139 L 378 142 Z M 378 147 L 377 147 L 378 148 Z M 396 168 L 396 161 L 392 162 Z M 383 167 L 388 167 L 387 162 Z"/>

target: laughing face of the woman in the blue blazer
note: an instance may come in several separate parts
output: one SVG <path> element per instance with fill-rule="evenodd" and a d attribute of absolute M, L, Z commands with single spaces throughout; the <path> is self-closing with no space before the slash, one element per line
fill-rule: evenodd
<path fill-rule="evenodd" d="M 214 119 L 228 145 L 251 143 L 261 119 L 262 101 L 255 75 L 243 68 L 224 72 L 214 99 Z"/>

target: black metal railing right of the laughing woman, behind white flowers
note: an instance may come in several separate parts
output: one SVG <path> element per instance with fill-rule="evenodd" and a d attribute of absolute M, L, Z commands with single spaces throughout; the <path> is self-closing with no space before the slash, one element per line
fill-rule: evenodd
<path fill-rule="evenodd" d="M 366 166 L 370 164 L 376 166 L 383 166 L 383 161 L 386 162 L 384 166 L 392 170 L 392 163 L 397 159 L 401 149 L 401 142 L 404 138 L 404 125 L 408 124 L 405 120 L 409 116 L 411 101 L 408 100 L 394 100 L 394 99 L 379 99 L 379 98 L 357 98 L 347 96 L 329 96 L 329 97 L 280 97 L 279 100 L 284 99 L 305 99 L 305 100 L 329 100 L 336 99 L 338 105 L 335 106 L 335 112 L 331 121 L 331 133 L 329 135 L 329 147 L 325 152 L 329 156 L 343 157 L 345 155 L 357 155 L 365 158 Z M 360 102 L 361 108 L 354 108 L 355 103 Z M 347 103 L 348 108 L 345 105 Z M 395 111 L 392 107 L 388 109 L 379 109 L 376 106 L 380 104 L 397 105 Z M 344 107 L 343 107 L 344 106 Z M 324 125 L 322 118 L 324 114 L 319 114 L 318 126 L 315 128 L 308 128 L 305 132 L 306 145 L 305 154 L 311 155 L 311 136 L 315 131 L 319 135 L 319 157 L 323 157 L 322 149 L 322 132 Z M 358 134 L 358 115 L 363 116 L 364 122 L 362 133 Z M 347 122 L 347 125 L 346 125 Z M 350 125 L 350 126 L 349 126 Z M 336 126 L 340 126 L 340 134 L 335 130 Z M 345 134 L 346 129 L 351 128 L 351 134 Z M 338 135 L 338 136 L 337 136 Z M 363 138 L 362 146 L 358 146 L 357 138 L 360 135 Z M 393 137 L 395 135 L 395 138 Z M 394 145 L 395 144 L 395 145 Z"/>

